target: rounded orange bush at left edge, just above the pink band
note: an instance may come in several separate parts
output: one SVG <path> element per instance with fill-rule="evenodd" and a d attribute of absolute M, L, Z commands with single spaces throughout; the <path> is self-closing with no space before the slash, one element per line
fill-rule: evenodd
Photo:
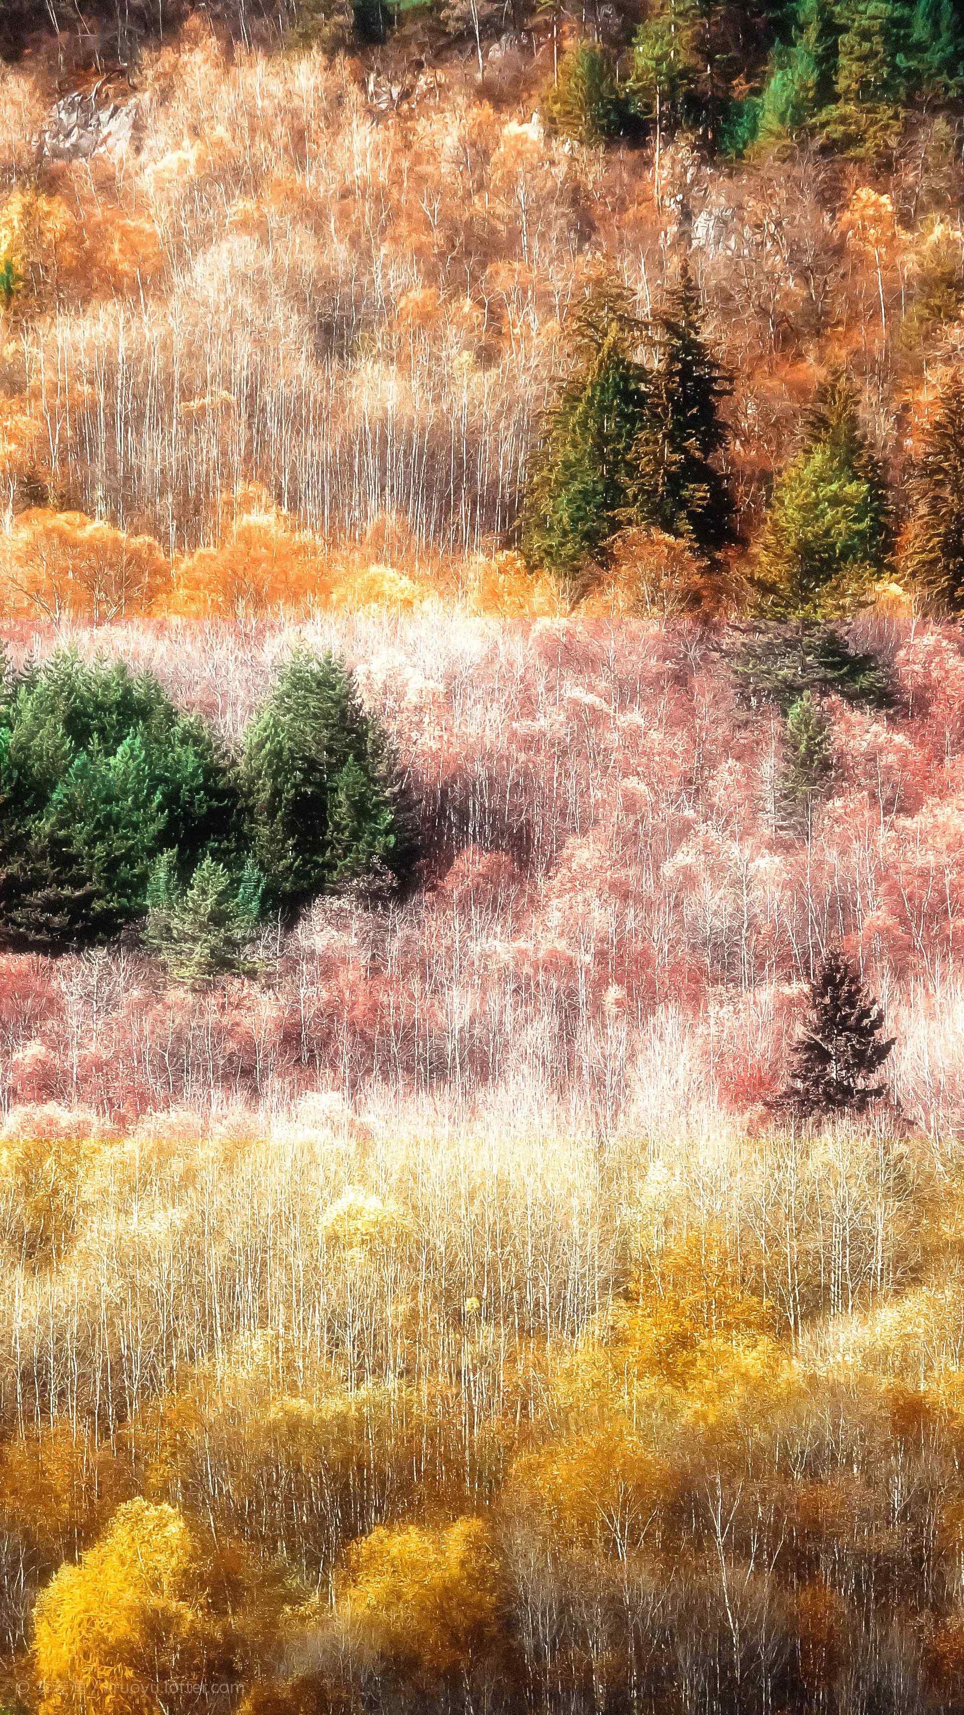
<path fill-rule="evenodd" d="M 146 612 L 170 580 L 154 537 L 128 537 L 86 513 L 31 508 L 2 542 L 0 609 L 106 624 Z"/>

